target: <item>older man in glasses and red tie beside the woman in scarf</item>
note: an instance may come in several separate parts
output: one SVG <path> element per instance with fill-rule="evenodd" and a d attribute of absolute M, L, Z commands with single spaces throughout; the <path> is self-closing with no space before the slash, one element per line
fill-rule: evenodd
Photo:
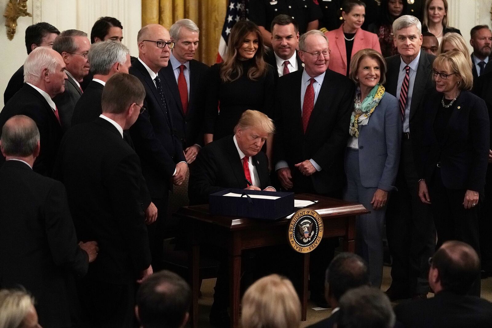
<path fill-rule="evenodd" d="M 304 70 L 281 76 L 277 83 L 277 176 L 287 191 L 341 198 L 354 83 L 328 69 L 328 38 L 320 31 L 299 38 L 299 57 Z M 311 291 L 317 291 L 311 299 L 319 303 L 326 303 L 323 275 L 332 257 L 333 249 L 323 246 L 311 253 Z"/>

